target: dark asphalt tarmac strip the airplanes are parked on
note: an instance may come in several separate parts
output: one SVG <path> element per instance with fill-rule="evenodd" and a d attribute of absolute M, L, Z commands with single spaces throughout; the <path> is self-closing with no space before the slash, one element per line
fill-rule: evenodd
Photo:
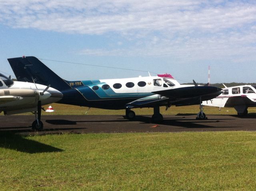
<path fill-rule="evenodd" d="M 44 130 L 32 130 L 32 115 L 0 116 L 0 133 L 23 135 L 48 133 L 123 133 L 123 132 L 178 132 L 178 131 L 255 131 L 256 115 L 207 115 L 196 120 L 196 115 L 164 115 L 164 122 L 151 123 L 151 116 L 136 116 L 134 121 L 122 115 L 42 115 Z"/>

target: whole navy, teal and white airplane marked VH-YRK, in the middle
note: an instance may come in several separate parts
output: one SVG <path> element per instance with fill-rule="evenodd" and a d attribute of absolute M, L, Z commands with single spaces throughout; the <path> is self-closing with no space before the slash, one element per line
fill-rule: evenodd
<path fill-rule="evenodd" d="M 170 74 L 158 76 L 67 81 L 57 76 L 35 57 L 9 58 L 8 62 L 19 81 L 32 82 L 56 88 L 63 94 L 57 103 L 125 109 L 126 117 L 135 117 L 132 108 L 153 107 L 152 121 L 162 121 L 160 106 L 197 105 L 220 95 L 221 89 L 211 86 L 180 85 Z M 202 110 L 199 117 L 205 118 Z"/>

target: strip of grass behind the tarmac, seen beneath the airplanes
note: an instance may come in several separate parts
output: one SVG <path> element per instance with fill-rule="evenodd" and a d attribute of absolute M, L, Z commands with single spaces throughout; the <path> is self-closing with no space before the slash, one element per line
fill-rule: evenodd
<path fill-rule="evenodd" d="M 48 108 L 49 105 L 44 105 L 45 109 Z M 97 109 L 88 107 L 80 107 L 75 105 L 65 105 L 59 103 L 52 103 L 51 106 L 54 108 L 54 112 L 49 113 L 42 111 L 42 115 L 125 115 L 124 109 L 122 110 L 109 110 L 109 109 Z M 152 115 L 153 108 L 138 108 L 132 109 L 135 111 L 136 115 Z M 87 111 L 87 112 L 86 112 Z M 167 111 L 165 107 L 160 107 L 160 112 L 162 115 L 179 115 L 179 114 L 191 114 L 196 115 L 200 111 L 199 105 L 190 105 L 190 106 L 182 106 L 182 107 L 170 107 Z M 256 107 L 248 108 L 249 115 L 250 113 L 256 113 Z M 237 112 L 234 108 L 221 108 L 219 110 L 218 107 L 209 107 L 204 106 L 204 113 L 206 115 L 236 115 Z M 3 115 L 3 112 L 0 113 Z M 33 115 L 32 113 L 21 113 L 20 115 Z"/>

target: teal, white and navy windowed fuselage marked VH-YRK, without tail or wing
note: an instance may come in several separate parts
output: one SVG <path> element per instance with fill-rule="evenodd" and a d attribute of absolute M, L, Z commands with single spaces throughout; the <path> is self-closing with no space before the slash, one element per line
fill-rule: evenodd
<path fill-rule="evenodd" d="M 180 85 L 168 74 L 165 77 L 158 75 L 66 82 L 72 89 L 62 91 L 64 96 L 58 103 L 102 109 L 124 109 L 127 103 L 154 95 L 152 92 L 190 86 Z"/>

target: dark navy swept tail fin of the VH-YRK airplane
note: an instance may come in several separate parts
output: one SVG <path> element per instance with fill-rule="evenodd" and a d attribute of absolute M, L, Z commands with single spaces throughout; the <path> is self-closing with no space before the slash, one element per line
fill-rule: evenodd
<path fill-rule="evenodd" d="M 33 83 L 33 78 L 37 84 L 45 86 L 50 84 L 52 88 L 60 91 L 71 89 L 65 80 L 52 72 L 50 68 L 34 56 L 8 58 L 7 60 L 18 81 Z"/>

